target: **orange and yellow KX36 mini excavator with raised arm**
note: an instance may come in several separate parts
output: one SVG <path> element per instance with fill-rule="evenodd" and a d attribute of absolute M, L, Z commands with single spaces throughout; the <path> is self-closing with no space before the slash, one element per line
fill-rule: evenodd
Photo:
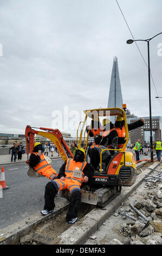
<path fill-rule="evenodd" d="M 94 171 L 93 176 L 88 180 L 88 183 L 82 184 L 81 201 L 83 203 L 98 205 L 104 207 L 109 198 L 113 195 L 118 195 L 121 192 L 122 186 L 132 186 L 135 182 L 137 172 L 134 156 L 130 151 L 126 151 L 126 145 L 129 140 L 127 118 L 125 108 L 98 108 L 83 111 L 85 113 L 85 119 L 80 122 L 77 128 L 77 142 L 79 143 L 78 148 L 81 148 L 82 138 L 84 138 L 84 148 L 86 151 L 86 161 L 89 162 L 87 148 L 88 148 L 88 137 L 89 131 L 87 132 L 86 138 L 86 121 L 87 118 L 110 118 L 112 116 L 120 115 L 125 120 L 125 144 L 120 149 L 110 149 L 104 146 L 100 147 L 100 163 L 99 167 Z M 80 136 L 78 136 L 79 128 L 82 123 L 80 130 Z M 38 129 L 38 130 L 35 130 Z M 62 133 L 58 129 L 49 129 L 44 127 L 31 127 L 27 125 L 25 129 L 25 139 L 27 141 L 27 164 L 29 162 L 29 153 L 33 153 L 35 135 L 41 135 L 48 138 L 55 144 L 59 151 L 63 161 L 67 158 L 73 158 L 73 154 L 70 151 L 68 145 L 63 139 Z M 109 162 L 105 162 L 106 154 L 110 150 L 114 151 Z M 70 194 L 67 190 L 59 191 L 60 197 L 69 199 Z"/>

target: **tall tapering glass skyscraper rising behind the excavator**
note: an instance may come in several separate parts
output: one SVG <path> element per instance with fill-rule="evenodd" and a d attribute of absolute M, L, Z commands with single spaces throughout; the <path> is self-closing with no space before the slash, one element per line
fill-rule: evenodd
<path fill-rule="evenodd" d="M 114 57 L 113 60 L 113 69 L 111 76 L 111 84 L 109 88 L 109 97 L 108 97 L 108 108 L 111 107 L 120 107 L 122 108 L 122 93 L 121 93 L 121 85 L 119 78 L 119 68 L 118 68 L 118 59 Z M 115 122 L 115 117 L 110 118 L 112 123 Z"/>

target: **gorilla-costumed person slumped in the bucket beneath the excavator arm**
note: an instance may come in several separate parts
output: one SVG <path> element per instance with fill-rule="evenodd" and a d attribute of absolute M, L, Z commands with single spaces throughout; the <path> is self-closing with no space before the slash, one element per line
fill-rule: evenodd
<path fill-rule="evenodd" d="M 45 156 L 42 151 L 42 144 L 36 142 L 34 144 L 33 153 L 29 158 L 30 168 L 28 170 L 28 176 L 33 177 L 37 174 L 46 176 L 50 180 L 54 180 L 57 176 L 57 172 L 51 167 L 51 160 L 48 158 L 48 156 Z"/>

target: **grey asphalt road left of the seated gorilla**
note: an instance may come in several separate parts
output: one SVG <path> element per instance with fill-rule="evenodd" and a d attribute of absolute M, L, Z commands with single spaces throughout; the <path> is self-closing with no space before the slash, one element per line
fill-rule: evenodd
<path fill-rule="evenodd" d="M 51 166 L 59 172 L 62 159 L 53 159 Z M 1 167 L 1 166 L 0 166 Z M 44 206 L 44 190 L 49 179 L 29 178 L 27 163 L 5 164 L 5 182 L 9 189 L 0 197 L 0 229 L 41 211 Z M 56 197 L 55 202 L 60 200 Z"/>

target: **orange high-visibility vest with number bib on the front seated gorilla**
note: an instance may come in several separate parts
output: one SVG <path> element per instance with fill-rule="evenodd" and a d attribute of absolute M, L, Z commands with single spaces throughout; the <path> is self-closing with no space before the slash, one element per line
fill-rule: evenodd
<path fill-rule="evenodd" d="M 79 182 L 82 184 L 85 174 L 83 173 L 83 169 L 85 168 L 87 162 L 75 162 L 73 159 L 67 159 L 66 167 L 65 167 L 65 174 L 66 179 L 70 179 L 73 182 Z M 81 172 L 81 178 L 74 177 L 74 172 Z"/>

